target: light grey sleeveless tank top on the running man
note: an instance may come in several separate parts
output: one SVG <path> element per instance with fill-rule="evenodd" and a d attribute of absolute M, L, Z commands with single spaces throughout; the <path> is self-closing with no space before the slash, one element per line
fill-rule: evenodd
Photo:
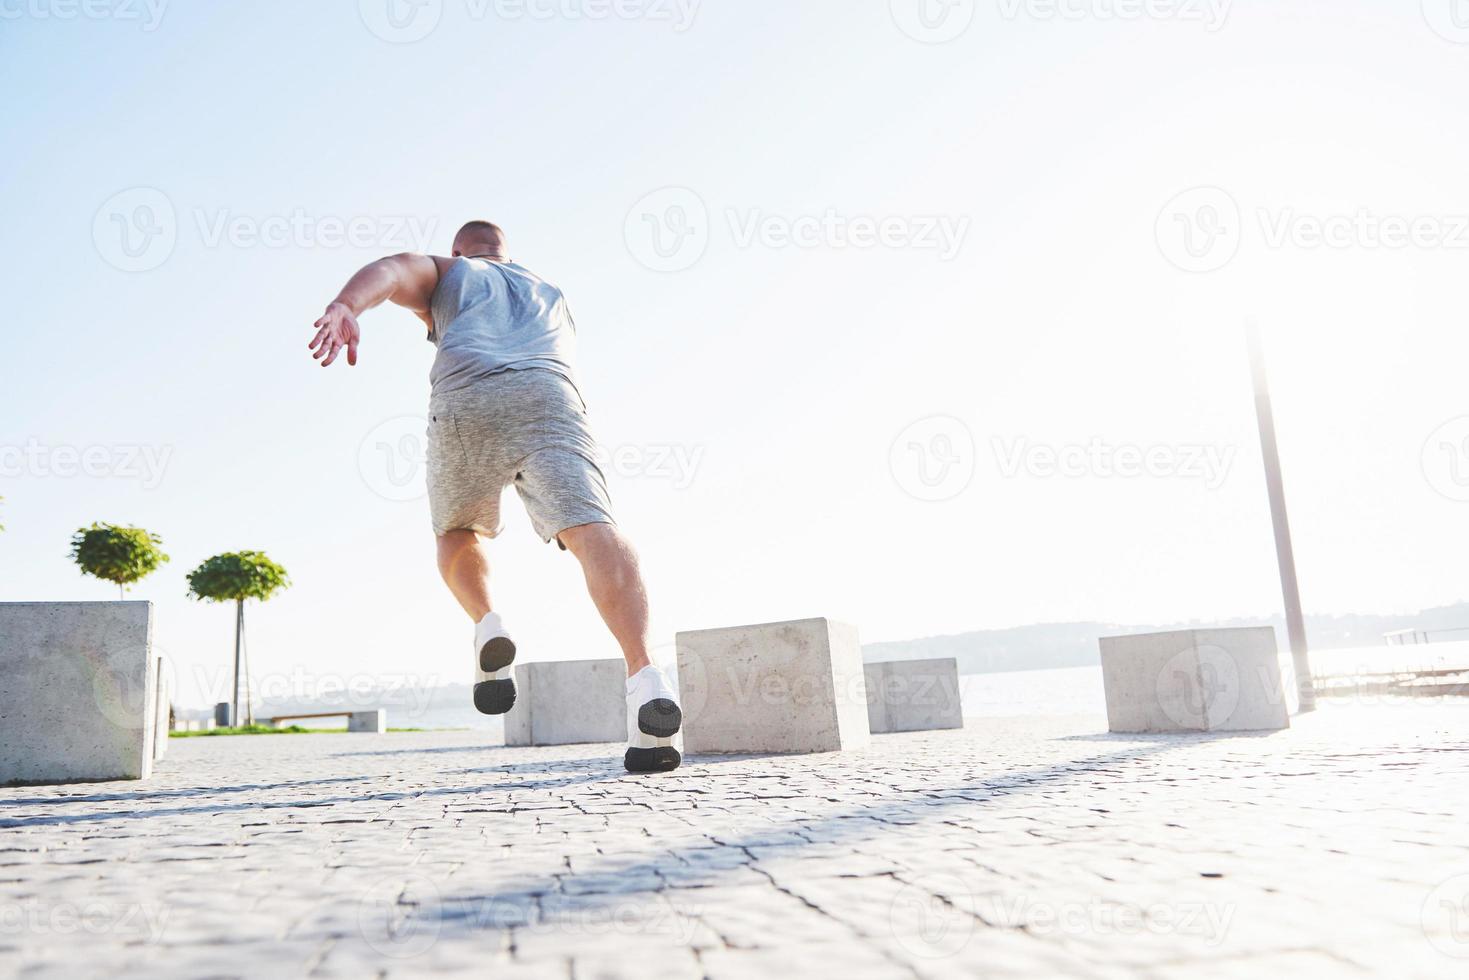
<path fill-rule="evenodd" d="M 554 285 L 513 262 L 455 259 L 433 291 L 435 392 L 502 370 L 545 367 L 576 386 L 576 323 Z"/>

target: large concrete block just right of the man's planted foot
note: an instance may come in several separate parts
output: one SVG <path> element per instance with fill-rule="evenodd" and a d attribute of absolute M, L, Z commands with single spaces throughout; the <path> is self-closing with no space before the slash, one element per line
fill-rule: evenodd
<path fill-rule="evenodd" d="M 687 752 L 834 752 L 868 742 L 856 627 L 827 619 L 677 635 Z"/>

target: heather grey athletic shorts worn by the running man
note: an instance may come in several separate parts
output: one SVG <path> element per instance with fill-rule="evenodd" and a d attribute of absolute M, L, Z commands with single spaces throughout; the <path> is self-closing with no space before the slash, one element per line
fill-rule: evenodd
<path fill-rule="evenodd" d="M 614 523 L 586 407 L 552 370 L 502 370 L 429 400 L 433 533 L 494 538 L 510 485 L 542 541 L 579 525 Z"/>

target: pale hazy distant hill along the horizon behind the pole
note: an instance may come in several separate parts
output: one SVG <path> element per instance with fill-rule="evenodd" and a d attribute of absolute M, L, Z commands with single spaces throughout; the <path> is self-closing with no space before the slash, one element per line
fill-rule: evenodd
<path fill-rule="evenodd" d="M 1124 626 L 1118 623 L 1044 623 L 1014 629 L 974 630 L 952 636 L 925 636 L 884 644 L 864 644 L 862 658 L 925 660 L 953 657 L 961 674 L 1000 673 L 1008 670 L 1047 670 L 1052 667 L 1090 667 L 1100 663 L 1097 639 L 1124 633 L 1155 633 L 1172 629 L 1208 629 L 1218 626 L 1274 626 L 1281 646 L 1285 646 L 1282 616 L 1232 619 L 1222 621 L 1191 621 L 1169 624 Z M 1307 616 L 1306 639 L 1313 649 L 1343 646 L 1374 646 L 1382 635 L 1400 629 L 1460 630 L 1451 638 L 1469 639 L 1469 602 L 1423 610 L 1410 616 Z M 1447 638 L 1447 636 L 1445 636 Z"/>

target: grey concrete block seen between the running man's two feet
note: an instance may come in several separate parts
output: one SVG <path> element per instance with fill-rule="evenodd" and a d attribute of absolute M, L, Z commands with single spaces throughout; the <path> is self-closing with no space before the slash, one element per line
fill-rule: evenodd
<path fill-rule="evenodd" d="M 627 741 L 627 661 L 516 664 L 505 745 Z"/>

